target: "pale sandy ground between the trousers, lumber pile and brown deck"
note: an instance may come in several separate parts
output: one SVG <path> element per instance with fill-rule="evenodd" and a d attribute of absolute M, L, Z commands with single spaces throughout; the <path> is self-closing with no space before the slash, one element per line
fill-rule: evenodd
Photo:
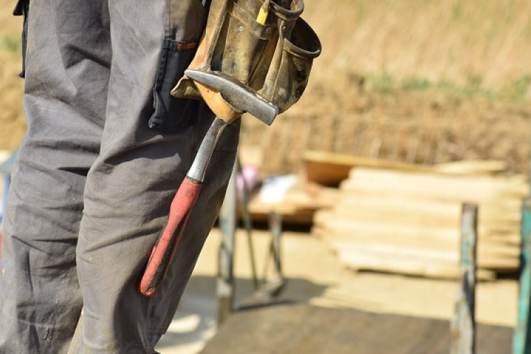
<path fill-rule="evenodd" d="M 270 234 L 253 231 L 258 272 L 263 274 Z M 165 354 L 194 354 L 217 331 L 216 274 L 220 232 L 212 230 L 181 306 L 157 349 Z M 287 278 L 281 299 L 334 309 L 399 314 L 450 321 L 457 281 L 399 275 L 354 273 L 341 265 L 323 241 L 305 232 L 282 234 L 282 266 Z M 236 308 L 253 295 L 246 233 L 236 236 Z M 515 280 L 481 282 L 476 290 L 476 319 L 481 324 L 514 327 L 518 284 Z M 449 324 L 450 326 L 450 324 Z M 377 331 L 378 329 L 375 329 Z"/>

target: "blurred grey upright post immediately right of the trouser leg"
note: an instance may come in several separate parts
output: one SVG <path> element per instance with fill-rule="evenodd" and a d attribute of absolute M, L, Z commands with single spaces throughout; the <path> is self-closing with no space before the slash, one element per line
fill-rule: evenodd
<path fill-rule="evenodd" d="M 234 308 L 234 241 L 236 235 L 236 164 L 219 212 L 222 240 L 217 275 L 217 323 L 227 319 Z"/>

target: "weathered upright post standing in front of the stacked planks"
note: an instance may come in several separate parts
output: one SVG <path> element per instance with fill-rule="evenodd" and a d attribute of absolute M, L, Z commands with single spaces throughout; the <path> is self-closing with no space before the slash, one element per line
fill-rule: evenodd
<path fill-rule="evenodd" d="M 457 290 L 455 317 L 451 324 L 451 354 L 476 353 L 476 204 L 462 205 L 461 287 Z"/>

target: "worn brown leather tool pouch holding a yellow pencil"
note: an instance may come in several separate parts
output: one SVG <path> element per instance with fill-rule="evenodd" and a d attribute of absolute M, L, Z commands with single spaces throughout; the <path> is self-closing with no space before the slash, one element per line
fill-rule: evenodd
<path fill-rule="evenodd" d="M 235 119 L 249 112 L 270 124 L 302 96 L 312 62 L 321 54 L 319 38 L 300 18 L 303 9 L 303 0 L 212 0 L 195 57 L 171 94 L 203 99 L 218 116 Z M 237 85 L 237 92 L 227 89 L 227 82 Z M 230 113 L 217 112 L 212 91 Z M 248 109 L 253 97 L 269 113 Z"/>

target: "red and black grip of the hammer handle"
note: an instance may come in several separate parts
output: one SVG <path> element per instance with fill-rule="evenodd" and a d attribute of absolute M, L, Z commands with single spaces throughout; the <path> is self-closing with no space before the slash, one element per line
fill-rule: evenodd
<path fill-rule="evenodd" d="M 198 200 L 201 190 L 201 183 L 193 181 L 186 177 L 177 190 L 173 201 L 171 202 L 169 219 L 166 227 L 156 242 L 149 261 L 147 261 L 146 270 L 142 280 L 140 280 L 139 291 L 147 296 L 152 297 L 159 290 L 162 280 L 168 272 L 171 258 L 177 249 L 183 230 L 190 217 L 190 212 Z"/>

